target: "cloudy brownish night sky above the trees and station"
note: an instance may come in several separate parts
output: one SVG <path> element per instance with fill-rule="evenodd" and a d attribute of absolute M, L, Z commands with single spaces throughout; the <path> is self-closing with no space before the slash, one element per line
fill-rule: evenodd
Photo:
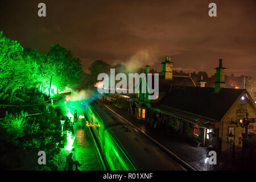
<path fill-rule="evenodd" d="M 38 3 L 47 16 L 38 16 Z M 217 4 L 217 17 L 208 5 Z M 24 48 L 72 51 L 84 71 L 93 60 L 161 70 L 164 55 L 184 72 L 256 77 L 256 1 L 0 1 L 0 30 Z"/>

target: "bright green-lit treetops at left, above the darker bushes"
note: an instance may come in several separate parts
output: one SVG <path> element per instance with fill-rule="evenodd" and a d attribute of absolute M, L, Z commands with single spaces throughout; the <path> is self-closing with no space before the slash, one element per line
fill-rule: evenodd
<path fill-rule="evenodd" d="M 81 61 L 59 44 L 47 55 L 36 49 L 23 49 L 16 41 L 0 34 L 0 100 L 26 102 L 20 92 L 52 84 L 60 90 L 80 79 Z M 23 96 L 26 94 L 23 94 Z"/>

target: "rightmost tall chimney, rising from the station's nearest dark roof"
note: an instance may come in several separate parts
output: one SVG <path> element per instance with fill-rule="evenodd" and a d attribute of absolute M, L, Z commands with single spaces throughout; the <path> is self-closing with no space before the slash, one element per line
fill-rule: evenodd
<path fill-rule="evenodd" d="M 220 93 L 221 88 L 225 88 L 225 70 L 226 68 L 222 67 L 222 59 L 219 60 L 218 68 L 216 69 L 216 82 L 214 86 L 214 92 Z"/>

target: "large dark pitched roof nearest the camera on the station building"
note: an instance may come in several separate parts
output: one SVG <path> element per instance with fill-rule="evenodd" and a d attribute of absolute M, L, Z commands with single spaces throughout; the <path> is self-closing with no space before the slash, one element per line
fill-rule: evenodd
<path fill-rule="evenodd" d="M 158 104 L 220 121 L 243 92 L 244 89 L 222 88 L 220 93 L 214 93 L 214 88 L 172 86 Z"/>

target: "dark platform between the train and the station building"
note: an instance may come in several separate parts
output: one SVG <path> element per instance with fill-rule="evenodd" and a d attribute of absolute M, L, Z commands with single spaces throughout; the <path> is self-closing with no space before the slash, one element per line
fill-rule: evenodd
<path fill-rule="evenodd" d="M 208 167 L 205 165 L 206 152 L 204 147 L 192 147 L 181 138 L 172 136 L 166 131 L 160 129 L 152 129 L 147 123 L 140 121 L 139 119 L 133 118 L 127 110 L 117 107 L 109 102 L 98 100 L 102 105 L 106 105 L 109 109 L 113 110 L 122 118 L 129 121 L 131 124 L 136 126 L 143 133 L 149 135 L 155 139 L 162 146 L 166 147 L 175 155 L 179 156 L 186 163 L 191 165 L 200 171 L 212 171 L 216 170 L 216 167 Z"/>

